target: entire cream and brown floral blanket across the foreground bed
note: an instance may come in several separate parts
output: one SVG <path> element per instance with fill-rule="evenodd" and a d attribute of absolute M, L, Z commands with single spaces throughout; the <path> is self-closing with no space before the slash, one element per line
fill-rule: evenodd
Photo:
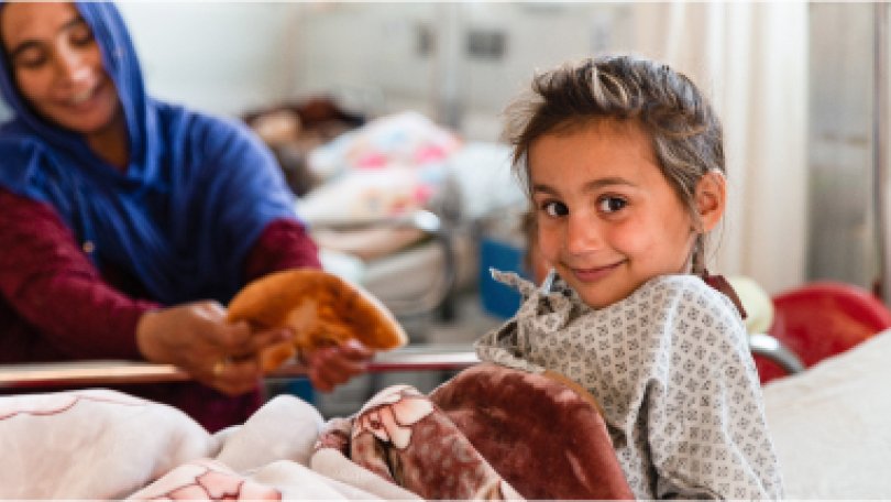
<path fill-rule="evenodd" d="M 630 499 L 591 396 L 483 363 L 322 423 L 288 395 L 210 435 L 107 390 L 0 397 L 0 499 Z M 581 392 L 581 393 L 580 393 Z"/>

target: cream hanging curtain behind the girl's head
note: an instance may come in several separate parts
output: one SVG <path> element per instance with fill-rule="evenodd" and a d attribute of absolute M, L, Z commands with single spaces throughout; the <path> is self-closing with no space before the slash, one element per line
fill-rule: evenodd
<path fill-rule="evenodd" d="M 635 50 L 696 81 L 724 123 L 728 211 L 712 266 L 801 284 L 807 229 L 807 4 L 641 3 Z"/>

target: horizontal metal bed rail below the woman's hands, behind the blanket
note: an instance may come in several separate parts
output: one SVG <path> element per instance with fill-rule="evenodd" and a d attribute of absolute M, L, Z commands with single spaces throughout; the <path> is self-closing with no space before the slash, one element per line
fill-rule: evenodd
<path fill-rule="evenodd" d="M 470 345 L 415 346 L 376 354 L 369 363 L 369 372 L 460 370 L 479 361 Z M 305 367 L 298 363 L 286 363 L 266 375 L 266 379 L 290 379 L 305 374 Z M 187 380 L 191 380 L 191 376 L 175 365 L 140 361 L 96 360 L 0 364 L 0 389 L 114 385 Z"/>

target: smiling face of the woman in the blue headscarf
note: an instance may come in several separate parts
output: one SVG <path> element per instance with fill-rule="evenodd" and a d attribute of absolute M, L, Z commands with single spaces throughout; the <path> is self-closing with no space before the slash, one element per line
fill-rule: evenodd
<path fill-rule="evenodd" d="M 7 3 L 0 33 L 15 84 L 36 112 L 86 135 L 114 123 L 118 92 L 74 4 Z"/>

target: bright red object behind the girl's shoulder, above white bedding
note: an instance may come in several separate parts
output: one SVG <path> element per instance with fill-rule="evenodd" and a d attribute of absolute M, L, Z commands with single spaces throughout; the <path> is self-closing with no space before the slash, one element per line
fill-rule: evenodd
<path fill-rule="evenodd" d="M 798 354 L 805 367 L 891 327 L 891 310 L 851 284 L 814 282 L 774 296 L 773 306 L 773 325 L 768 332 Z M 762 356 L 755 356 L 755 363 L 762 384 L 787 375 Z"/>

